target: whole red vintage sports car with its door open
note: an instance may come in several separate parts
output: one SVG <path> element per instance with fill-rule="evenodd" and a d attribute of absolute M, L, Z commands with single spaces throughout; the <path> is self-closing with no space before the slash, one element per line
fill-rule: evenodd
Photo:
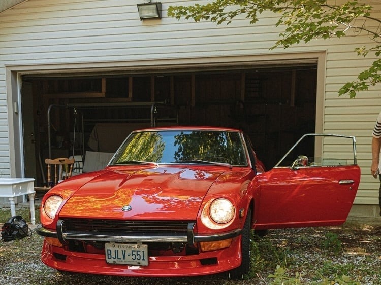
<path fill-rule="evenodd" d="M 240 277 L 252 229 L 345 222 L 360 180 L 354 137 L 307 134 L 271 170 L 257 174 L 256 164 L 237 129 L 134 131 L 105 169 L 44 196 L 42 261 L 95 274 Z"/>

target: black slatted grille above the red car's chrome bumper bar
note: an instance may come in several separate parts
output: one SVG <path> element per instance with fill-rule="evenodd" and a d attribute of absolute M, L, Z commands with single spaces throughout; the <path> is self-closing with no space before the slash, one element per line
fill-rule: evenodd
<path fill-rule="evenodd" d="M 63 219 L 65 230 L 103 233 L 185 234 L 192 221 L 124 221 L 105 219 Z"/>

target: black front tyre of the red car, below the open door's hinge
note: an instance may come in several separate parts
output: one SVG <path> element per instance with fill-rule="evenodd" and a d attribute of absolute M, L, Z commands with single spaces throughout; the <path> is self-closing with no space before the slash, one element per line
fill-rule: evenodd
<path fill-rule="evenodd" d="M 241 279 L 250 270 L 250 233 L 251 233 L 251 210 L 248 209 L 246 221 L 242 229 L 241 237 L 241 265 L 229 272 L 232 279 Z"/>

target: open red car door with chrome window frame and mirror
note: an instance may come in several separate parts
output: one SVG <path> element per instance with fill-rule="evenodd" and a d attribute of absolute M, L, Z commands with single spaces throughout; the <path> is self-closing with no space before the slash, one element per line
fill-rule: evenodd
<path fill-rule="evenodd" d="M 340 225 L 359 182 L 355 137 L 305 134 L 273 169 L 253 181 L 254 228 Z"/>

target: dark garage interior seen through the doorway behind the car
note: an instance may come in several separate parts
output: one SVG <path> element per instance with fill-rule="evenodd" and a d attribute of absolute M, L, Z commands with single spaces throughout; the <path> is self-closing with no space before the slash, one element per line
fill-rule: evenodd
<path fill-rule="evenodd" d="M 242 129 L 271 169 L 303 134 L 315 132 L 316 80 L 317 64 L 310 63 L 24 75 L 24 150 L 31 144 L 35 152 L 24 153 L 25 176 L 35 177 L 36 185 L 43 186 L 42 164 L 49 154 L 50 158 L 81 156 L 85 161 L 86 151 L 114 152 L 131 130 L 152 123 Z M 30 87 L 28 92 L 25 86 Z M 123 128 L 126 133 L 119 128 L 124 124 L 129 125 Z M 106 150 L 91 143 L 94 133 L 109 138 Z"/>

